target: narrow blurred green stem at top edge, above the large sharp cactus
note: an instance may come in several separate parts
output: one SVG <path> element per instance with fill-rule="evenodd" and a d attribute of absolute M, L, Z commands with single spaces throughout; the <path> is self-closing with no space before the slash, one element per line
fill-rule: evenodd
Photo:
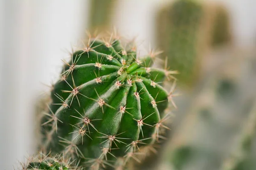
<path fill-rule="evenodd" d="M 90 0 L 89 29 L 99 32 L 109 30 L 118 0 Z"/>

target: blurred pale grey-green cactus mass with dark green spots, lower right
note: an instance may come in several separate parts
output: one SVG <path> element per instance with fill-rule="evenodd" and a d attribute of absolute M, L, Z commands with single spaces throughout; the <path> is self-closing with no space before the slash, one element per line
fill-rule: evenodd
<path fill-rule="evenodd" d="M 172 125 L 162 169 L 256 169 L 255 59 L 244 56 L 237 51 L 213 56 L 218 61 L 214 71 L 205 75 L 186 114 Z M 178 108 L 182 105 L 177 101 Z"/>

